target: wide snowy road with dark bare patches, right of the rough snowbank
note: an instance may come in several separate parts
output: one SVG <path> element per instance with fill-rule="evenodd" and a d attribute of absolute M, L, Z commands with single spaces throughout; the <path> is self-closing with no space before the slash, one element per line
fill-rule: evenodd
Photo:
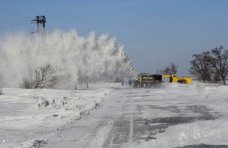
<path fill-rule="evenodd" d="M 44 147 L 228 147 L 227 93 L 215 91 L 181 85 L 116 89 Z"/>

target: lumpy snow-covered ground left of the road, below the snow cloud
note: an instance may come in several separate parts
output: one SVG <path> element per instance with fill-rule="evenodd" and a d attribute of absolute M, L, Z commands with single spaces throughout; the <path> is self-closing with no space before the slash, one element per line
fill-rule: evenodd
<path fill-rule="evenodd" d="M 31 147 L 45 143 L 59 130 L 97 108 L 113 87 L 53 90 L 4 88 L 0 96 L 0 147 Z"/>

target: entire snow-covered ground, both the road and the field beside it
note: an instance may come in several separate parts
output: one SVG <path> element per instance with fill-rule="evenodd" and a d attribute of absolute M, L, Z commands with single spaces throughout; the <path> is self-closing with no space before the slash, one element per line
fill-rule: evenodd
<path fill-rule="evenodd" d="M 228 147 L 227 112 L 228 86 L 213 84 L 3 89 L 0 147 Z"/>

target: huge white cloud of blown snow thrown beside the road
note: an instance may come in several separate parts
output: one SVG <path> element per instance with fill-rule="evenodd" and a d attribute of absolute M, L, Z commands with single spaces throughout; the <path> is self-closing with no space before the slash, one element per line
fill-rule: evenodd
<path fill-rule="evenodd" d="M 46 36 L 12 33 L 0 39 L 5 86 L 19 87 L 24 77 L 47 63 L 56 69 L 57 88 L 72 88 L 85 80 L 128 80 L 136 73 L 124 47 L 108 35 L 90 33 L 84 38 L 74 30 L 56 30 Z"/>

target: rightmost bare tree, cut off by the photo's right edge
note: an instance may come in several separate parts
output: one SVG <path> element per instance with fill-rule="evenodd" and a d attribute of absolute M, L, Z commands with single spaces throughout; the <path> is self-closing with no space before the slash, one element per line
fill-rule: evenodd
<path fill-rule="evenodd" d="M 228 50 L 223 46 L 211 50 L 210 64 L 215 72 L 220 76 L 224 85 L 226 85 L 226 76 L 228 74 Z"/>

